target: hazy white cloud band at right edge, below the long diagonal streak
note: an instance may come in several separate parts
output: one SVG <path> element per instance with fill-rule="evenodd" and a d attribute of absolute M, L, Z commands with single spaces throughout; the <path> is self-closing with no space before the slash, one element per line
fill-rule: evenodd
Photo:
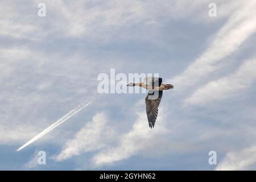
<path fill-rule="evenodd" d="M 201 86 L 192 96 L 185 99 L 185 104 L 204 105 L 235 94 L 243 94 L 241 91 L 247 89 L 256 79 L 255 70 L 256 60 L 246 60 L 235 73 Z"/>

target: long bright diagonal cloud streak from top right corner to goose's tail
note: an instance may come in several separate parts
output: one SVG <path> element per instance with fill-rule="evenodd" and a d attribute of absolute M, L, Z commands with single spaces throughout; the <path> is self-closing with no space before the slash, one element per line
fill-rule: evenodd
<path fill-rule="evenodd" d="M 220 68 L 220 60 L 231 55 L 256 31 L 256 3 L 244 3 L 214 36 L 205 52 L 190 64 L 181 75 L 170 80 L 176 89 L 195 85 L 209 73 Z"/>

